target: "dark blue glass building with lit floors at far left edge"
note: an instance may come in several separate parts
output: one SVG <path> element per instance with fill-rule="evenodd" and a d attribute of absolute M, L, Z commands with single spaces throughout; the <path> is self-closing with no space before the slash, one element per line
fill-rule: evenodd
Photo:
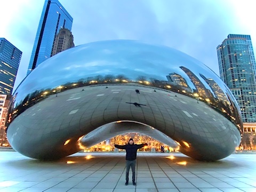
<path fill-rule="evenodd" d="M 0 94 L 11 94 L 22 52 L 5 38 L 0 38 Z"/>

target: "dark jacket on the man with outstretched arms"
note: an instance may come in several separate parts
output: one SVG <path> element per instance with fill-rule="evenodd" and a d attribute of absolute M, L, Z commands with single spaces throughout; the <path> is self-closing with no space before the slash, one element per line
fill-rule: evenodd
<path fill-rule="evenodd" d="M 137 150 L 144 147 L 144 146 L 147 146 L 147 144 L 145 143 L 145 144 L 140 144 L 140 145 L 137 145 L 137 144 L 130 145 L 130 143 L 128 143 L 127 145 L 123 145 L 123 146 L 115 145 L 115 147 L 118 148 L 118 149 L 125 149 L 126 150 L 125 159 L 128 160 L 128 161 L 135 160 L 136 157 L 137 157 Z"/>

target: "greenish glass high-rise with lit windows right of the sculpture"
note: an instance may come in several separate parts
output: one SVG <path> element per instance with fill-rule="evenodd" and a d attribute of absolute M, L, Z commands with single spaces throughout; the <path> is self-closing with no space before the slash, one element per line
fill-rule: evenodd
<path fill-rule="evenodd" d="M 250 35 L 228 35 L 217 46 L 220 78 L 234 94 L 244 123 L 256 122 L 255 63 Z"/>

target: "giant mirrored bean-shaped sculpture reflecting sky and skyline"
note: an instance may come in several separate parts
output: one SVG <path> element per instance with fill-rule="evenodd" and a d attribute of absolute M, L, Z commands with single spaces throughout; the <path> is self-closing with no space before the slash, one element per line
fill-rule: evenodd
<path fill-rule="evenodd" d="M 239 107 L 203 63 L 160 45 L 115 40 L 47 59 L 13 93 L 7 138 L 19 153 L 58 159 L 127 132 L 215 161 L 241 141 Z"/>

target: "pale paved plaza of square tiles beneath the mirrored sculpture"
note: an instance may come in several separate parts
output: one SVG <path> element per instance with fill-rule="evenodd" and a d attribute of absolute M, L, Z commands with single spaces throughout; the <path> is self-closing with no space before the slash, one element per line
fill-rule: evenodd
<path fill-rule="evenodd" d="M 125 153 L 76 153 L 38 161 L 0 151 L 0 191 L 256 191 L 256 154 L 199 162 L 180 153 L 138 153 L 137 186 L 125 186 Z"/>

